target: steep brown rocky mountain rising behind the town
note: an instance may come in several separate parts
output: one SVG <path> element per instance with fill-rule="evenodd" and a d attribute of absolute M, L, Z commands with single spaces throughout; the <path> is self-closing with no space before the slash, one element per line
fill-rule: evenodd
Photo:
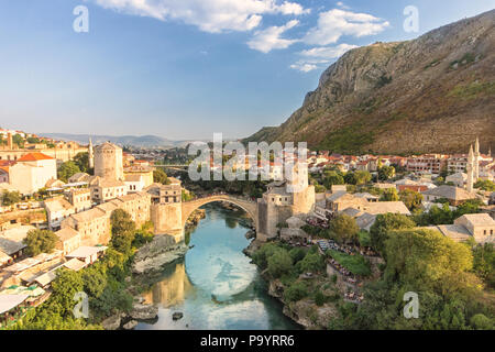
<path fill-rule="evenodd" d="M 345 153 L 495 150 L 495 10 L 417 40 L 352 50 L 278 128 L 244 141 Z"/>

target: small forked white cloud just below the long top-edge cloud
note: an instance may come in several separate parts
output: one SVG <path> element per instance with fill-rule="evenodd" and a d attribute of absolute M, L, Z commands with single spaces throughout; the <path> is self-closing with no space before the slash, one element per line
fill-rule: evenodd
<path fill-rule="evenodd" d="M 299 40 L 287 40 L 280 37 L 280 35 L 297 24 L 299 24 L 299 21 L 293 20 L 282 26 L 274 25 L 263 31 L 257 31 L 254 33 L 253 38 L 248 42 L 248 46 L 265 54 L 274 48 L 286 48 Z"/>

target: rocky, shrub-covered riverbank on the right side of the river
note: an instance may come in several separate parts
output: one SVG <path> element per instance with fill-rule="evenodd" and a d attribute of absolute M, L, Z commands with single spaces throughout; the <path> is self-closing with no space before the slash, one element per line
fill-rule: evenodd
<path fill-rule="evenodd" d="M 266 251 L 271 255 L 278 248 L 287 251 L 294 258 L 295 263 L 290 268 L 287 267 L 288 264 L 285 264 L 286 274 L 279 277 L 271 275 L 271 267 L 266 265 L 267 257 L 261 258 L 261 262 L 265 263 L 264 266 L 257 263 L 260 255 L 256 252 L 264 252 L 264 245 L 272 246 Z M 340 317 L 342 307 L 361 304 L 352 297 L 359 297 L 362 294 L 362 283 L 351 283 L 332 268 L 324 256 L 315 249 L 290 248 L 280 242 L 266 244 L 253 240 L 243 252 L 253 258 L 262 277 L 267 282 L 268 295 L 283 304 L 284 315 L 307 330 L 332 329 L 332 321 Z M 373 273 L 370 279 L 380 277 L 378 266 L 381 263 L 380 260 L 370 260 Z M 282 270 L 282 266 L 278 270 Z M 273 267 L 272 272 L 274 272 Z"/>

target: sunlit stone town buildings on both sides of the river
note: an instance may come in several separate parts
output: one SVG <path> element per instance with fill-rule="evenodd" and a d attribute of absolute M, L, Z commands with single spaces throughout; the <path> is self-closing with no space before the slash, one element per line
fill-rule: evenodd
<path fill-rule="evenodd" d="M 164 233 L 164 222 L 183 227 L 182 221 L 173 219 L 176 215 L 170 209 L 177 211 L 188 191 L 179 178 L 167 177 L 166 183 L 157 179 L 162 161 L 138 160 L 109 142 L 95 146 L 91 141 L 87 146 L 46 143 L 34 134 L 14 131 L 21 138 L 15 139 L 18 143 L 12 131 L 1 132 L 2 327 L 50 297 L 51 283 L 59 268 L 77 272 L 105 255 L 111 240 L 110 218 L 117 209 L 129 213 L 138 228 L 152 222 L 155 234 Z M 29 143 L 30 139 L 37 143 Z M 328 229 L 337 217 L 350 217 L 360 231 L 369 232 L 381 215 L 426 218 L 432 209 L 457 213 L 458 208 L 473 204 L 473 213 L 463 212 L 450 223 L 425 221 L 418 227 L 438 231 L 455 242 L 493 243 L 495 161 L 491 151 L 482 154 L 479 141 L 473 142 L 468 154 L 455 155 L 352 156 L 309 152 L 302 161 L 308 165 L 307 173 L 290 183 L 266 183 L 256 204 L 256 237 L 321 246 L 315 229 Z M 86 164 L 65 172 L 81 160 Z M 260 172 L 266 166 L 246 165 L 246 172 Z M 271 178 L 277 179 L 283 166 L 272 162 L 270 170 Z M 302 190 L 290 191 L 294 183 L 302 185 Z M 28 238 L 36 231 L 54 233 L 56 243 L 50 251 L 30 255 Z M 183 241 L 182 234 L 175 239 Z M 348 251 L 334 243 L 324 245 Z M 336 260 L 329 265 L 345 273 Z"/>

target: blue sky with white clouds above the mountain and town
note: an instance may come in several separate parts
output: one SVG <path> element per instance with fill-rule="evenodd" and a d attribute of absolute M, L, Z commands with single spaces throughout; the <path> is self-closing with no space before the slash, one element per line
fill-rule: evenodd
<path fill-rule="evenodd" d="M 411 6 L 417 22 L 405 14 Z M 0 0 L 0 127 L 243 138 L 284 122 L 346 51 L 494 8 L 495 0 Z M 406 31 L 406 20 L 417 28 Z"/>

